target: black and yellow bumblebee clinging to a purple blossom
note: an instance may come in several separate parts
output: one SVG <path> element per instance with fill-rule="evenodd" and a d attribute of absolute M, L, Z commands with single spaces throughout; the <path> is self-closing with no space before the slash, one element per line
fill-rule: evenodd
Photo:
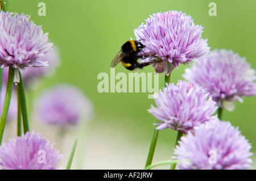
<path fill-rule="evenodd" d="M 144 66 L 150 65 L 149 63 L 140 64 L 137 61 L 139 58 L 145 57 L 138 56 L 138 53 L 141 52 L 144 47 L 145 46 L 140 41 L 126 41 L 126 43 L 122 45 L 121 50 L 114 57 L 111 67 L 113 68 L 119 62 L 128 70 L 142 69 Z"/>

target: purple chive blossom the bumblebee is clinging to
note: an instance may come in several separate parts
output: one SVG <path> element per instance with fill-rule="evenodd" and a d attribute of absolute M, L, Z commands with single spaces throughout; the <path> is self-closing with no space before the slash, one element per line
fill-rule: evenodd
<path fill-rule="evenodd" d="M 179 64 L 209 52 L 207 40 L 201 39 L 203 27 L 195 25 L 191 16 L 181 11 L 153 14 L 134 30 L 137 40 L 146 47 L 143 55 L 154 55 L 142 60 L 152 62 L 158 73 L 170 74 Z"/>

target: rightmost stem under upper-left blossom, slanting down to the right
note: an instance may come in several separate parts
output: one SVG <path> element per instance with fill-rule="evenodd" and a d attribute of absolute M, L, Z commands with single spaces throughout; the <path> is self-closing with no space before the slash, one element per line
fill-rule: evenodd
<path fill-rule="evenodd" d="M 27 104 L 26 104 L 26 96 L 25 96 L 25 90 L 24 90 L 24 85 L 22 81 L 22 75 L 19 71 L 19 83 L 17 85 L 17 91 L 18 91 L 18 97 L 19 97 L 19 102 L 20 102 L 20 110 L 22 112 L 22 120 L 23 120 L 23 129 L 24 129 L 24 134 L 26 132 L 30 131 L 30 128 L 28 126 L 28 116 L 27 116 Z"/>

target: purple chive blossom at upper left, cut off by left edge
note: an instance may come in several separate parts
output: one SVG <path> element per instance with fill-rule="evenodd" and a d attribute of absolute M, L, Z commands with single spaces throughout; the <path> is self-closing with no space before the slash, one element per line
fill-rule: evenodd
<path fill-rule="evenodd" d="M 42 26 L 30 21 L 30 16 L 0 12 L 0 66 L 1 68 L 46 67 L 47 61 L 40 58 L 47 53 L 52 43 Z"/>

